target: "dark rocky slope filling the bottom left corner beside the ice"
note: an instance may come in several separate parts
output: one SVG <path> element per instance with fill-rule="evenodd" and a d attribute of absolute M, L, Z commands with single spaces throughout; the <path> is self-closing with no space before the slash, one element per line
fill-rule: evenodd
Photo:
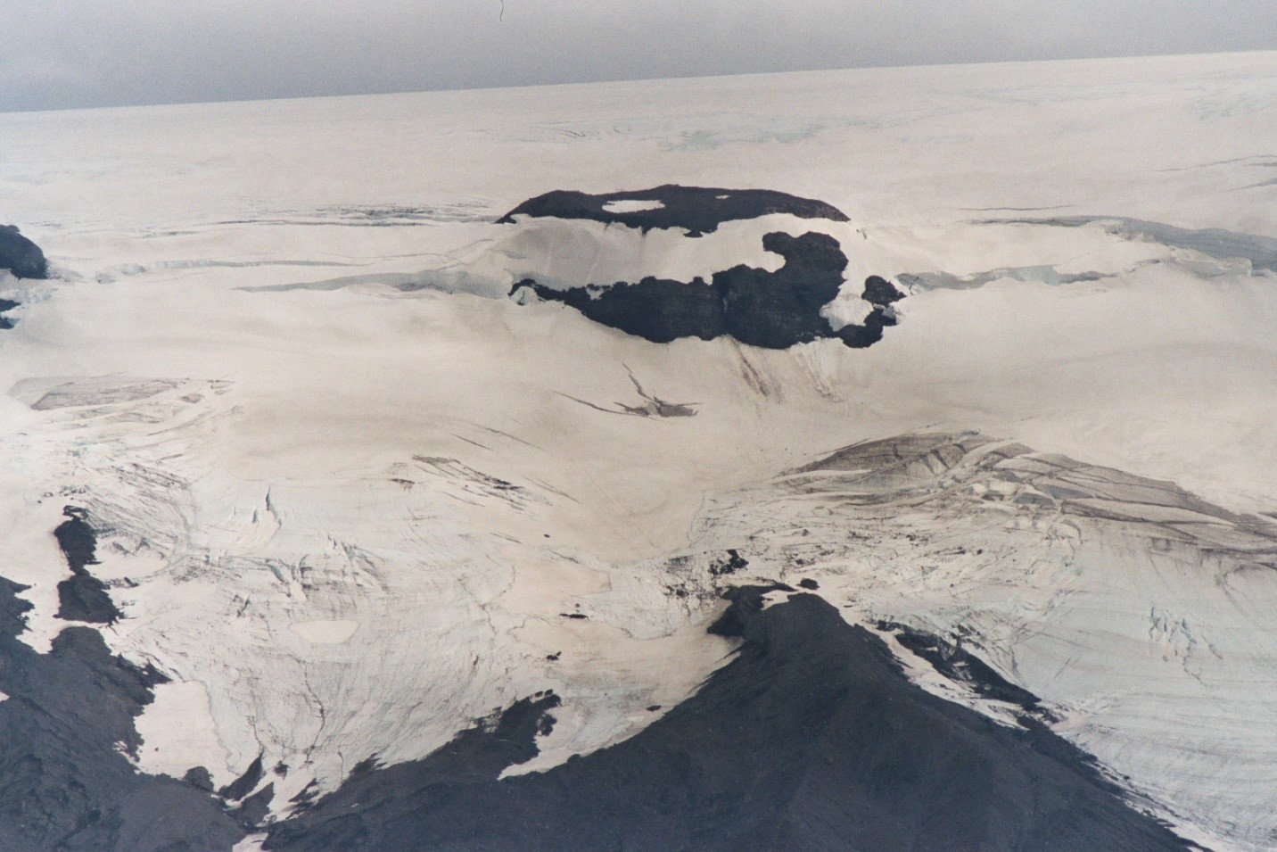
<path fill-rule="evenodd" d="M 18 639 L 23 589 L 0 577 L 0 849 L 230 852 L 244 829 L 218 802 L 126 756 L 165 677 L 114 657 L 92 627 L 34 651 Z"/>

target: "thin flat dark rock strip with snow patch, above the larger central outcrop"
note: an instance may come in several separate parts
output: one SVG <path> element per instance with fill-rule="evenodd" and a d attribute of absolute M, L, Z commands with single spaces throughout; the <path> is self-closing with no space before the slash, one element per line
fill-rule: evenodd
<path fill-rule="evenodd" d="M 613 212 L 613 202 L 659 202 L 660 207 Z M 831 204 L 799 198 L 770 189 L 711 189 L 665 184 L 654 189 L 590 195 L 567 189 L 530 198 L 510 211 L 498 224 L 511 224 L 515 216 L 553 216 L 585 218 L 595 222 L 628 225 L 649 231 L 654 227 L 682 227 L 687 236 L 701 236 L 723 222 L 757 218 L 769 213 L 790 213 L 799 218 L 827 218 L 845 222 L 847 215 Z"/>

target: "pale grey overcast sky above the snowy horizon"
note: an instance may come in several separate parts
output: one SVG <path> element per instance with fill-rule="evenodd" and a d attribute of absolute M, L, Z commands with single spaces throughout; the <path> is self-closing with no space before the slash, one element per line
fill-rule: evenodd
<path fill-rule="evenodd" d="M 1277 49 L 1277 0 L 0 0 L 0 111 Z"/>

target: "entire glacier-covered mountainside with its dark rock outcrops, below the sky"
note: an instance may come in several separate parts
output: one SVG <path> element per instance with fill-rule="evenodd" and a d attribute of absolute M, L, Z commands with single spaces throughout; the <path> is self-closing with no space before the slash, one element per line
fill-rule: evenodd
<path fill-rule="evenodd" d="M 0 139 L 0 848 L 1277 847 L 1277 54 Z"/>

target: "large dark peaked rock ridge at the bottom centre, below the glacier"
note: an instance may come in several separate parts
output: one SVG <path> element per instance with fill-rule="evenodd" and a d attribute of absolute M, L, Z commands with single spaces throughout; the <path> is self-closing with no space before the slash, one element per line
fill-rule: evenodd
<path fill-rule="evenodd" d="M 424 760 L 363 766 L 266 848 L 628 852 L 1185 852 L 1091 759 L 913 685 L 816 595 L 736 589 L 736 659 L 637 736 L 544 773 L 552 703 L 525 700 Z"/>

